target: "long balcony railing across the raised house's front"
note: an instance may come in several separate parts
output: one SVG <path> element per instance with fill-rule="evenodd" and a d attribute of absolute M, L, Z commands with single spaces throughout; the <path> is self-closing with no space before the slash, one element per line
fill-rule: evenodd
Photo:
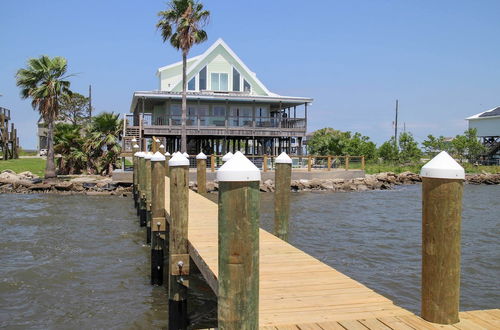
<path fill-rule="evenodd" d="M 129 118 L 130 125 L 137 120 Z M 145 113 L 142 120 L 143 126 L 181 126 L 182 116 L 156 116 Z M 137 125 L 134 125 L 137 126 Z M 186 126 L 188 127 L 247 127 L 247 128 L 305 128 L 304 118 L 278 118 L 278 117 L 245 117 L 245 116 L 187 116 Z"/>

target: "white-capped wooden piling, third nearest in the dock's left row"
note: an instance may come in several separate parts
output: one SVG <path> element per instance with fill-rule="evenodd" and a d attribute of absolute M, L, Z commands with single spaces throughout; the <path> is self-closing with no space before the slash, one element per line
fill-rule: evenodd
<path fill-rule="evenodd" d="M 156 152 L 151 157 L 151 285 L 163 284 L 163 239 L 165 232 L 165 156 Z"/>

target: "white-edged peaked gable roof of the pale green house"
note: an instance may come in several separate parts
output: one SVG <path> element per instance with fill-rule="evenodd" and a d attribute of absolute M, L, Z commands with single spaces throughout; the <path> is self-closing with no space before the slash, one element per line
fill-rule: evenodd
<path fill-rule="evenodd" d="M 191 65 L 191 67 L 186 72 L 186 75 L 187 75 L 188 79 L 190 79 L 189 77 L 191 77 L 192 75 L 196 74 L 197 71 L 199 71 L 199 70 L 202 69 L 202 68 L 200 68 L 200 66 L 204 66 L 202 64 L 205 64 L 205 65 L 208 64 L 208 63 L 205 63 L 207 61 L 207 58 L 219 46 L 221 46 L 222 48 L 224 48 L 224 50 L 229 54 L 229 56 L 231 56 L 234 59 L 234 61 L 241 66 L 241 68 L 243 69 L 243 71 L 245 71 L 245 72 L 240 72 L 240 74 L 242 74 L 242 75 L 246 74 L 246 76 L 248 76 L 252 80 L 254 80 L 255 83 L 264 91 L 265 94 L 267 94 L 269 96 L 275 96 L 275 95 L 277 95 L 277 94 L 271 93 L 267 89 L 267 87 L 257 78 L 257 75 L 254 72 L 252 72 L 245 65 L 245 63 L 243 63 L 243 61 L 238 57 L 238 55 L 236 55 L 236 53 L 221 38 L 217 39 L 217 41 L 214 42 L 212 44 L 212 46 L 210 46 L 203 54 L 201 54 L 201 55 L 199 55 L 199 56 L 196 57 L 196 61 Z M 171 67 L 171 66 L 168 66 L 168 67 Z M 162 68 L 160 68 L 160 69 L 162 69 Z M 182 84 L 182 78 L 179 81 L 177 81 L 177 83 L 174 84 L 174 86 L 172 87 L 171 90 L 175 90 L 176 88 L 179 88 L 181 84 Z"/>

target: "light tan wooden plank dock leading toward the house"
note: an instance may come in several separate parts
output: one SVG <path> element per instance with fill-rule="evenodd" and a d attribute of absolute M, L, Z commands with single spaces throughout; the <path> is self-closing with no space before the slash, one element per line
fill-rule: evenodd
<path fill-rule="evenodd" d="M 167 218 L 169 186 L 167 177 Z M 216 203 L 189 191 L 189 254 L 216 294 L 217 213 Z M 454 326 L 426 322 L 263 229 L 260 229 L 259 283 L 262 329 L 481 329 L 481 326 L 491 329 L 500 326 L 499 310 L 463 312 L 462 321 Z"/>

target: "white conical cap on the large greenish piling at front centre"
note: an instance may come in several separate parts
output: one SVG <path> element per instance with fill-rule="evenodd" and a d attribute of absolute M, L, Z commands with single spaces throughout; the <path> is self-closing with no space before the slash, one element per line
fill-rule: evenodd
<path fill-rule="evenodd" d="M 218 181 L 260 181 L 260 170 L 243 155 L 237 151 L 217 171 Z"/>

